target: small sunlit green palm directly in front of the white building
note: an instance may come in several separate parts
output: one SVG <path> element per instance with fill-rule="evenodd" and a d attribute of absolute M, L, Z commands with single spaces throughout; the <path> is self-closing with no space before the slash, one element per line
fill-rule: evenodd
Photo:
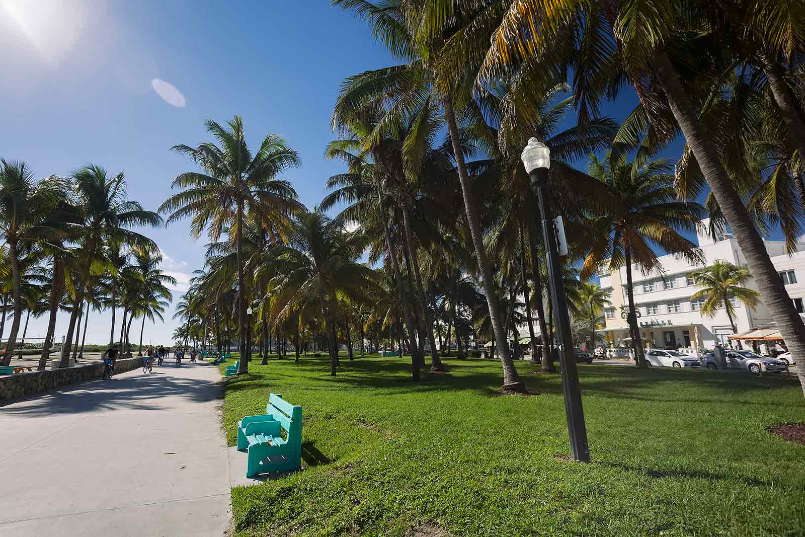
<path fill-rule="evenodd" d="M 752 275 L 742 266 L 716 259 L 711 266 L 691 272 L 691 278 L 697 287 L 702 287 L 691 296 L 691 300 L 704 299 L 701 312 L 708 317 L 716 316 L 718 310 L 724 308 L 733 333 L 737 332 L 733 320 L 735 316 L 733 299 L 741 300 L 749 308 L 758 305 L 760 293 L 749 287 L 743 287 L 752 279 Z"/>

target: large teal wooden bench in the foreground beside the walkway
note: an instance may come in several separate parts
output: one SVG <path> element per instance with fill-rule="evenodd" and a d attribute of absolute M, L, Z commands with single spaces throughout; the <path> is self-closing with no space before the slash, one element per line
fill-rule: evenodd
<path fill-rule="evenodd" d="M 283 439 L 283 430 L 287 433 Z M 245 451 L 246 477 L 299 469 L 302 465 L 302 407 L 270 394 L 266 413 L 237 423 L 237 449 Z"/>

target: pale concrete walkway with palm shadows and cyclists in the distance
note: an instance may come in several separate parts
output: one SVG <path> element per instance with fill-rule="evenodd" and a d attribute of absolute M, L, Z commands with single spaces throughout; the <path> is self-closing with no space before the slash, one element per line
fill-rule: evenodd
<path fill-rule="evenodd" d="M 155 366 L 0 407 L 0 535 L 223 535 L 215 366 Z"/>

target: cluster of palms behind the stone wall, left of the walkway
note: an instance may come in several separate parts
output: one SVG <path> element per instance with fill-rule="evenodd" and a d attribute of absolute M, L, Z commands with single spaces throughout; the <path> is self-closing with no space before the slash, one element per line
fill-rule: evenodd
<path fill-rule="evenodd" d="M 90 310 L 107 308 L 113 312 L 109 345 L 115 341 L 115 309 L 122 308 L 118 341 L 129 351 L 131 324 L 142 319 L 142 353 L 145 320 L 162 319 L 171 299 L 167 285 L 175 279 L 159 268 L 155 242 L 133 229 L 163 220 L 127 198 L 123 174 L 89 165 L 68 177 L 38 180 L 26 163 L 0 160 L 0 207 L 0 337 L 6 317 L 11 323 L 0 364 L 8 365 L 14 349 L 25 344 L 31 315 L 48 315 L 39 358 L 39 370 L 45 369 L 57 315 L 67 312 L 60 364 L 68 366 L 71 357 L 83 355 Z"/>

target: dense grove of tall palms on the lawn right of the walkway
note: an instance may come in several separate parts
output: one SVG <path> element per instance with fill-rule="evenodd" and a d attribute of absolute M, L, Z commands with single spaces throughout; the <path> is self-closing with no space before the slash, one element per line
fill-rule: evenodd
<path fill-rule="evenodd" d="M 284 333 L 325 333 L 335 373 L 333 333 L 345 325 L 345 305 L 374 309 L 366 319 L 377 320 L 385 304 L 382 328 L 394 327 L 404 340 L 418 378 L 426 347 L 431 368 L 443 367 L 435 340 L 449 312 L 456 329 L 472 319 L 493 338 L 503 388 L 524 389 L 508 344 L 514 320 L 528 325 L 532 342 L 543 335 L 543 369 L 554 370 L 538 225 L 553 215 L 539 215 L 519 160 L 536 137 L 551 150 L 551 206 L 571 238 L 568 283 L 587 281 L 604 265 L 625 266 L 631 291 L 635 268 L 662 271 L 658 250 L 700 262 L 685 234 L 709 216 L 712 233 L 731 227 L 783 337 L 805 355 L 805 327 L 761 234 L 779 225 L 793 249 L 802 230 L 798 36 L 805 32 L 797 26 L 803 19 L 786 12 L 793 5 L 332 4 L 369 23 L 400 63 L 342 83 L 332 114 L 337 139 L 325 155 L 347 170 L 328 179 L 330 192 L 312 213 L 276 179 L 299 164 L 295 152 L 272 135 L 251 155 L 240 118 L 229 128 L 208 123 L 217 143 L 175 148 L 202 171 L 177 177 L 180 192 L 160 210 L 168 221 L 192 217 L 192 233 L 207 229 L 212 240 L 199 281 L 207 305 L 194 315 L 225 314 L 221 297 L 234 292 L 241 348 L 258 330 L 266 339 L 296 319 Z M 601 105 L 626 88 L 638 105 L 618 125 L 600 114 Z M 679 134 L 686 140 L 679 160 L 657 159 Z M 331 210 L 330 221 L 323 212 Z M 325 240 L 325 228 L 336 238 Z M 319 234 L 306 241 L 301 229 Z M 227 240 L 219 242 L 222 233 Z M 341 250 L 332 250 L 336 244 Z M 382 275 L 357 265 L 360 246 Z M 310 266 L 303 269 L 300 256 Z M 330 271 L 347 266 L 340 263 L 357 280 L 336 279 Z M 298 272 L 291 277 L 291 270 Z M 457 298 L 465 284 L 483 305 Z M 631 292 L 628 303 L 645 366 Z M 464 323 L 456 314 L 462 310 Z M 245 371 L 248 361 L 241 362 Z"/>

